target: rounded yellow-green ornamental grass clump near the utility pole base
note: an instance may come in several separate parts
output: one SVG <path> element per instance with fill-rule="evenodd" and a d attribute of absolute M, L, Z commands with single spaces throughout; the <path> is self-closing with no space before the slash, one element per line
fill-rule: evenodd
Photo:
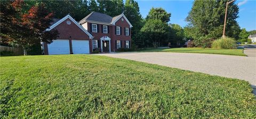
<path fill-rule="evenodd" d="M 214 40 L 212 43 L 212 48 L 235 48 L 236 47 L 236 41 L 233 38 L 220 38 L 217 40 Z"/>

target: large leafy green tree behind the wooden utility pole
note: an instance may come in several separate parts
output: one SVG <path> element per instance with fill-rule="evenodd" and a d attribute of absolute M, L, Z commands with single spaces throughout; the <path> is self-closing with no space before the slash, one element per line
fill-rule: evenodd
<path fill-rule="evenodd" d="M 219 38 L 222 36 L 223 23 L 225 18 L 226 0 L 222 1 L 195 1 L 186 21 L 189 22 L 190 29 L 194 32 L 193 38 L 195 40 L 200 37 Z M 236 19 L 238 18 L 238 6 L 230 3 L 228 7 L 226 24 L 226 35 L 228 37 L 237 38 L 239 32 L 239 25 Z"/>

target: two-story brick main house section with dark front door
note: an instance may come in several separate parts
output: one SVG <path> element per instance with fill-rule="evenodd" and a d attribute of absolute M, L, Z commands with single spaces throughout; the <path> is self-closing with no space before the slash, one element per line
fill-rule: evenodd
<path fill-rule="evenodd" d="M 112 18 L 107 14 L 92 12 L 79 23 L 94 37 L 93 50 L 115 52 L 118 48 L 131 48 L 132 24 L 124 14 Z"/>

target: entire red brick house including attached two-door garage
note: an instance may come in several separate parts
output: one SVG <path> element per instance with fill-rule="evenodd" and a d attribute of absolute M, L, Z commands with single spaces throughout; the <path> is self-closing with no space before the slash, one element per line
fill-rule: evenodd
<path fill-rule="evenodd" d="M 45 55 L 89 54 L 93 50 L 115 52 L 118 48 L 131 47 L 131 23 L 124 14 L 112 18 L 92 12 L 84 19 L 75 21 L 70 15 L 54 19 L 48 31 L 57 29 L 58 39 L 51 44 L 42 43 Z"/>

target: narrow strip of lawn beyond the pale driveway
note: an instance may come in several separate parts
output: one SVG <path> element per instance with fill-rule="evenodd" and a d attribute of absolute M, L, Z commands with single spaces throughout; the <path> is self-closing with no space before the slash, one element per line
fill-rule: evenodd
<path fill-rule="evenodd" d="M 213 48 L 150 48 L 142 49 L 139 52 L 177 52 L 177 53 L 205 53 L 222 55 L 246 56 L 243 49 L 213 49 Z"/>

